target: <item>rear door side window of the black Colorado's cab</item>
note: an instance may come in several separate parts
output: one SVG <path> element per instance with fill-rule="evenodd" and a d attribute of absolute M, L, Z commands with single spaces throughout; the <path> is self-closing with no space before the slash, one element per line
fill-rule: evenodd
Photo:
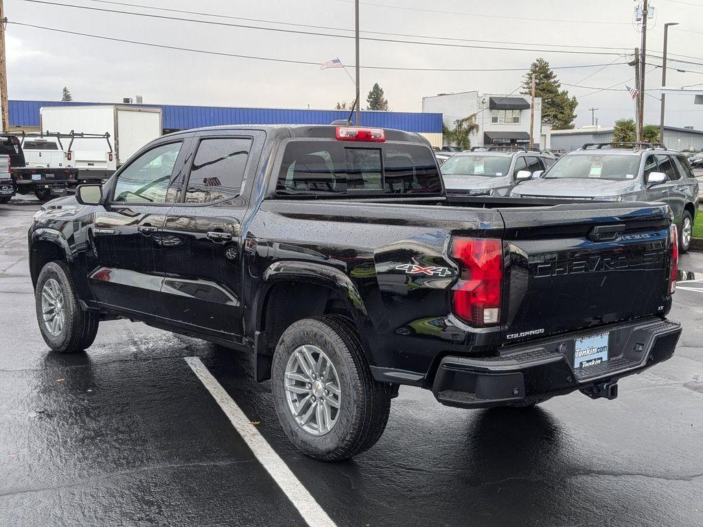
<path fill-rule="evenodd" d="M 188 178 L 186 203 L 211 203 L 237 197 L 251 148 L 249 138 L 202 139 Z"/>

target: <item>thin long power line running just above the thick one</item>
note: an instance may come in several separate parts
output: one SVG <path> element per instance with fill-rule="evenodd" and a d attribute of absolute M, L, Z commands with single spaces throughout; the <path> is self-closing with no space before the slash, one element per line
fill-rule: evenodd
<path fill-rule="evenodd" d="M 332 27 L 332 26 L 325 26 L 325 25 L 310 25 L 310 24 L 296 24 L 294 22 L 279 22 L 278 20 L 266 20 L 262 18 L 245 18 L 245 17 L 240 17 L 240 16 L 233 16 L 233 15 L 223 15 L 221 13 L 204 13 L 202 11 L 186 11 L 184 9 L 173 9 L 173 8 L 165 8 L 165 7 L 157 7 L 157 6 L 145 6 L 145 5 L 140 5 L 140 4 L 130 4 L 129 2 L 119 2 L 119 1 L 114 1 L 114 0 L 87 0 L 91 2 L 96 2 L 98 4 L 111 4 L 111 5 L 116 5 L 116 6 L 129 6 L 129 7 L 136 7 L 136 8 L 143 8 L 143 9 L 153 9 L 156 11 L 167 11 L 169 13 L 183 13 L 186 15 L 199 15 L 199 16 L 209 16 L 212 18 L 225 18 L 229 20 L 245 20 L 247 22 L 264 22 L 267 24 L 278 24 L 278 25 L 289 25 L 293 27 L 310 27 L 316 30 L 332 30 L 332 31 L 350 31 L 353 32 L 354 30 L 349 27 Z M 425 34 L 409 34 L 409 33 L 392 33 L 392 32 L 386 32 L 386 31 L 370 31 L 370 30 L 360 30 L 361 33 L 368 33 L 368 34 L 382 34 L 382 35 L 389 35 L 392 37 L 415 37 L 418 39 L 433 39 L 433 40 L 451 40 L 451 41 L 458 41 L 458 42 L 489 42 L 490 44 L 515 44 L 518 46 L 550 46 L 550 47 L 558 47 L 558 48 L 584 48 L 584 49 L 612 49 L 612 50 L 620 50 L 624 51 L 626 49 L 629 49 L 627 46 L 587 46 L 585 44 L 582 45 L 574 45 L 574 44 L 545 44 L 545 43 L 535 43 L 535 42 L 513 42 L 513 41 L 504 41 L 504 40 L 486 40 L 486 39 L 463 39 L 459 37 L 434 37 L 432 35 L 425 35 Z"/>

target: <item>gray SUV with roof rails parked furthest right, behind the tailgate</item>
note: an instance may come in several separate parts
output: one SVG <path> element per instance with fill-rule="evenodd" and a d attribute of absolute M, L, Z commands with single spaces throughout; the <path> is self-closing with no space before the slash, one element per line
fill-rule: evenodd
<path fill-rule="evenodd" d="M 586 143 L 510 195 L 664 202 L 673 211 L 679 245 L 686 252 L 697 211 L 698 182 L 685 154 L 659 143 Z"/>

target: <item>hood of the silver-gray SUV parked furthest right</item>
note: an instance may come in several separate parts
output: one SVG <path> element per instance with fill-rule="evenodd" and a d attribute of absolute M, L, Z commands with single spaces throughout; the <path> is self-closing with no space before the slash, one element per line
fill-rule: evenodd
<path fill-rule="evenodd" d="M 596 178 L 540 178 L 525 181 L 514 192 L 528 196 L 554 197 L 605 197 L 631 193 L 636 190 L 635 181 L 614 181 Z"/>

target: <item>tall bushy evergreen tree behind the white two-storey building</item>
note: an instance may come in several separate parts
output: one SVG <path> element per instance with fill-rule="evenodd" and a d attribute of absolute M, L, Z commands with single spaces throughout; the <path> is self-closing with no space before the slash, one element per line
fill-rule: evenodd
<path fill-rule="evenodd" d="M 574 128 L 576 97 L 569 97 L 567 90 L 562 90 L 561 83 L 549 63 L 538 58 L 530 65 L 529 72 L 522 82 L 522 94 L 529 95 L 532 75 L 535 75 L 535 97 L 542 98 L 542 122 L 551 124 L 557 130 Z"/>

